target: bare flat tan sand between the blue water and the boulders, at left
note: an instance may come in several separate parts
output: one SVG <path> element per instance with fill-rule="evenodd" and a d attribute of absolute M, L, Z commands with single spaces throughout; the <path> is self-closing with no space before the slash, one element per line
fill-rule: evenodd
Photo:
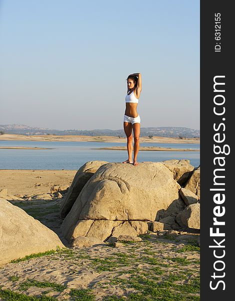
<path fill-rule="evenodd" d="M 53 185 L 69 185 L 76 170 L 0 170 L 0 190 L 7 188 L 10 194 L 50 193 Z"/>

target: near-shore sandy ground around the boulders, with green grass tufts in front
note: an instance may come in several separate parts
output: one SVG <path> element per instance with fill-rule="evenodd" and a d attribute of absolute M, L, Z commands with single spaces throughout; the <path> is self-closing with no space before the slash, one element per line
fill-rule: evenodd
<path fill-rule="evenodd" d="M 49 193 L 53 185 L 70 185 L 75 173 L 0 170 L 0 189 L 12 194 Z M 51 301 L 199 300 L 199 234 L 167 237 L 151 232 L 142 235 L 141 242 L 117 248 L 108 243 L 71 248 L 60 233 L 61 201 L 10 201 L 57 233 L 67 248 L 1 266 L 0 300 L 25 299 L 22 294 Z"/>

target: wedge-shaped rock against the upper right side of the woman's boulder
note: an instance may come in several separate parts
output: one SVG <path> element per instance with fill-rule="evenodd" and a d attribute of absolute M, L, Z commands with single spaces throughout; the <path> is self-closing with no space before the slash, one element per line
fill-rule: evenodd
<path fill-rule="evenodd" d="M 179 185 L 183 185 L 191 176 L 194 167 L 189 164 L 189 160 L 167 160 L 162 163 L 172 172 L 174 180 Z"/>

